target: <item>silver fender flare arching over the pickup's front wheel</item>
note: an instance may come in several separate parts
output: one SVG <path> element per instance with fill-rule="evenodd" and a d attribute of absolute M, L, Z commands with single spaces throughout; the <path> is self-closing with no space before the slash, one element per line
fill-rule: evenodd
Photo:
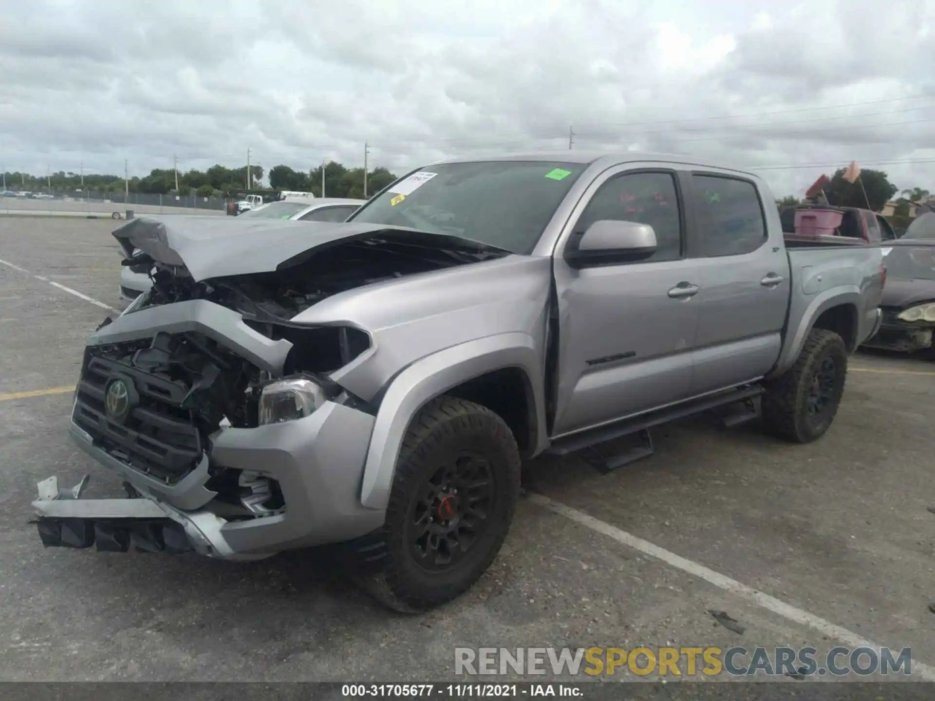
<path fill-rule="evenodd" d="M 462 382 L 505 367 L 523 370 L 532 388 L 539 436 L 545 426 L 541 352 L 525 333 L 497 334 L 439 350 L 416 361 L 392 381 L 377 412 L 361 482 L 361 504 L 386 508 L 403 436 L 430 400 Z"/>

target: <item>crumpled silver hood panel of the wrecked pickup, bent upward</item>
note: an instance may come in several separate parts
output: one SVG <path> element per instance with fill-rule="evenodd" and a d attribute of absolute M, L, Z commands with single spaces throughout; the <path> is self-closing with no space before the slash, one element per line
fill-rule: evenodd
<path fill-rule="evenodd" d="M 273 272 L 305 260 L 315 250 L 377 233 L 443 246 L 448 236 L 417 229 L 354 222 L 294 222 L 217 216 L 139 217 L 113 235 L 127 258 L 134 249 L 154 261 L 182 265 L 197 282 Z"/>

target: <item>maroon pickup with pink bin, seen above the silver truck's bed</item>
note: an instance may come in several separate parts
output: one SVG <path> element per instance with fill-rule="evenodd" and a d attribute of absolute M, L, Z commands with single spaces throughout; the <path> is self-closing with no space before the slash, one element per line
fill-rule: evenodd
<path fill-rule="evenodd" d="M 882 216 L 870 209 L 831 207 L 830 205 L 797 205 L 780 211 L 785 239 L 808 245 L 834 243 L 879 244 L 897 238 L 893 228 Z"/>

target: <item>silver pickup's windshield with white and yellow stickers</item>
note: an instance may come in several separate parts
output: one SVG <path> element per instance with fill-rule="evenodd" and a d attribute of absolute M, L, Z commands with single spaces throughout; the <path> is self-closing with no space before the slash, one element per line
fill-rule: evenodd
<path fill-rule="evenodd" d="M 396 182 L 352 221 L 408 226 L 530 253 L 586 167 L 545 161 L 431 165 Z"/>

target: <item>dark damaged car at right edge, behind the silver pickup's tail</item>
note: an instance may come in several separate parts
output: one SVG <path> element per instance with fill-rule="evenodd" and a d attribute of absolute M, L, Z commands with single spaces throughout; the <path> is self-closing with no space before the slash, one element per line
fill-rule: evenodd
<path fill-rule="evenodd" d="M 935 332 L 935 212 L 918 217 L 884 248 L 883 322 L 867 348 L 914 353 L 931 350 Z"/>

